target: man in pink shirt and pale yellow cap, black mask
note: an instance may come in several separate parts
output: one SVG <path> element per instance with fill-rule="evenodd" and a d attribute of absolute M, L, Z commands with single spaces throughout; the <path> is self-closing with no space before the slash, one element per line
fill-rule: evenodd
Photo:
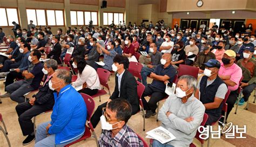
<path fill-rule="evenodd" d="M 233 50 L 226 50 L 223 58 L 221 59 L 223 63 L 220 64 L 219 77 L 222 79 L 226 85 L 227 89 L 230 90 L 230 96 L 227 98 L 227 117 L 230 111 L 234 107 L 235 100 L 238 97 L 238 86 L 239 81 L 242 78 L 242 69 L 234 64 L 235 52 Z M 222 112 L 224 115 L 224 111 Z M 226 120 L 227 120 L 226 117 Z"/>

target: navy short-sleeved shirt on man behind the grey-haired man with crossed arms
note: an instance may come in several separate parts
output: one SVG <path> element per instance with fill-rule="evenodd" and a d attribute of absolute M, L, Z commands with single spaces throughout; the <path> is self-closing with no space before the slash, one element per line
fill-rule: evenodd
<path fill-rule="evenodd" d="M 176 75 L 176 69 L 172 65 L 169 65 L 168 67 L 164 68 L 164 65 L 160 64 L 156 67 L 156 69 L 154 69 L 153 73 L 161 76 L 169 76 L 169 82 L 172 83 L 174 76 Z M 163 81 L 153 80 L 151 86 L 163 92 L 165 91 L 165 84 Z"/>

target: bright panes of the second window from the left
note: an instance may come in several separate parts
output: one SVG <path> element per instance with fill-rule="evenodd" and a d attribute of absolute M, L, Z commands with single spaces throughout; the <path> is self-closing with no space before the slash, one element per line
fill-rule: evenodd
<path fill-rule="evenodd" d="M 26 16 L 28 23 L 33 20 L 35 25 L 64 25 L 62 10 L 26 9 Z"/>

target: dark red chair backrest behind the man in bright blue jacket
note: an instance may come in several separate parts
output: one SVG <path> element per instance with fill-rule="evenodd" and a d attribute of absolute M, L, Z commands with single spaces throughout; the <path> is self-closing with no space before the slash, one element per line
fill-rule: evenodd
<path fill-rule="evenodd" d="M 84 99 L 84 102 L 86 104 L 87 109 L 87 121 L 91 120 L 91 116 L 93 114 L 93 110 L 95 108 L 95 101 L 92 99 L 90 95 L 80 93 Z"/>

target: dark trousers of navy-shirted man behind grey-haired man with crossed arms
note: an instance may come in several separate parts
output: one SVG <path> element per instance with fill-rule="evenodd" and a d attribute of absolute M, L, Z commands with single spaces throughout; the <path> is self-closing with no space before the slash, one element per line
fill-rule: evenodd
<path fill-rule="evenodd" d="M 151 95 L 151 97 L 149 102 L 147 102 L 145 100 L 145 96 L 149 95 Z M 159 90 L 151 85 L 147 85 L 147 87 L 144 90 L 144 93 L 142 94 L 142 102 L 144 109 L 151 110 L 154 113 L 157 109 L 157 102 L 163 100 L 165 96 L 166 94 L 162 90 Z"/>

